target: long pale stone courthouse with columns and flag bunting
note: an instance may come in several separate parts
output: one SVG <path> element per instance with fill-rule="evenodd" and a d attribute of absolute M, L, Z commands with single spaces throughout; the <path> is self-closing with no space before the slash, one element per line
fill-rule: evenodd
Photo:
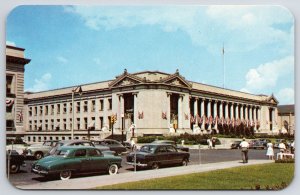
<path fill-rule="evenodd" d="M 8 64 L 12 60 L 8 57 L 9 49 L 8 46 Z M 7 100 L 14 101 L 12 118 L 17 132 L 27 142 L 71 139 L 72 129 L 78 139 L 104 138 L 122 132 L 127 139 L 144 135 L 210 134 L 218 133 L 223 125 L 241 124 L 255 133 L 279 133 L 278 101 L 273 95 L 254 95 L 188 81 L 179 70 L 129 73 L 125 69 L 108 81 L 27 92 L 23 106 L 24 64 L 30 60 L 17 59 L 13 62 L 22 68 L 16 80 L 9 77 L 7 81 L 13 83 L 20 78 L 22 84 L 18 94 L 14 98 L 7 96 Z M 7 71 L 7 74 L 13 73 Z M 18 113 L 23 113 L 22 117 Z"/>

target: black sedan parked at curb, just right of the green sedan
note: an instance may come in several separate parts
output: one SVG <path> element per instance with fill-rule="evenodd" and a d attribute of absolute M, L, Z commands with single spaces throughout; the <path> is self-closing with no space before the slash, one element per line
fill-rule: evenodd
<path fill-rule="evenodd" d="M 136 157 L 136 161 L 135 161 Z M 141 167 L 151 167 L 158 169 L 166 165 L 187 165 L 190 154 L 178 151 L 171 144 L 147 144 L 143 145 L 139 151 L 131 152 L 127 155 L 127 164 Z"/>

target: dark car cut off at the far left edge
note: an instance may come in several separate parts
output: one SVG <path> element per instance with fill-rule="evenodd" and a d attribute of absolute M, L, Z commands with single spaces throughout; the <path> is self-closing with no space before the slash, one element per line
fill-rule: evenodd
<path fill-rule="evenodd" d="M 6 152 L 6 160 L 7 169 L 9 169 L 10 173 L 17 173 L 20 171 L 21 166 L 26 166 L 24 155 L 20 155 L 15 150 L 8 150 Z"/>

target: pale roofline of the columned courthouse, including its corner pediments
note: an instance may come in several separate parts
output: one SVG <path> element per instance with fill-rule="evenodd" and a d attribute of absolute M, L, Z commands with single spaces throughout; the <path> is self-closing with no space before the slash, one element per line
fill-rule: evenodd
<path fill-rule="evenodd" d="M 193 91 L 200 91 L 201 93 L 225 95 L 241 99 L 251 99 L 254 101 L 267 101 L 271 102 L 273 96 L 267 95 L 255 95 L 250 93 L 244 93 L 241 91 L 235 91 L 231 89 L 224 89 L 212 85 L 201 84 L 197 82 L 188 81 L 179 74 L 176 70 L 175 73 L 164 73 L 160 71 L 143 71 L 136 73 L 128 73 L 125 69 L 124 72 L 114 80 L 102 81 L 97 83 L 84 84 L 82 86 L 83 91 L 98 91 L 98 90 L 110 90 L 114 87 L 123 87 L 125 85 L 140 85 L 140 84 L 164 84 L 169 86 L 183 87 Z M 65 94 L 71 94 L 73 87 L 66 87 L 61 89 L 49 90 L 37 93 L 27 93 L 27 98 L 42 98 L 49 96 L 59 96 Z M 271 98 L 271 99 L 270 99 Z M 276 102 L 277 103 L 277 102 Z"/>

